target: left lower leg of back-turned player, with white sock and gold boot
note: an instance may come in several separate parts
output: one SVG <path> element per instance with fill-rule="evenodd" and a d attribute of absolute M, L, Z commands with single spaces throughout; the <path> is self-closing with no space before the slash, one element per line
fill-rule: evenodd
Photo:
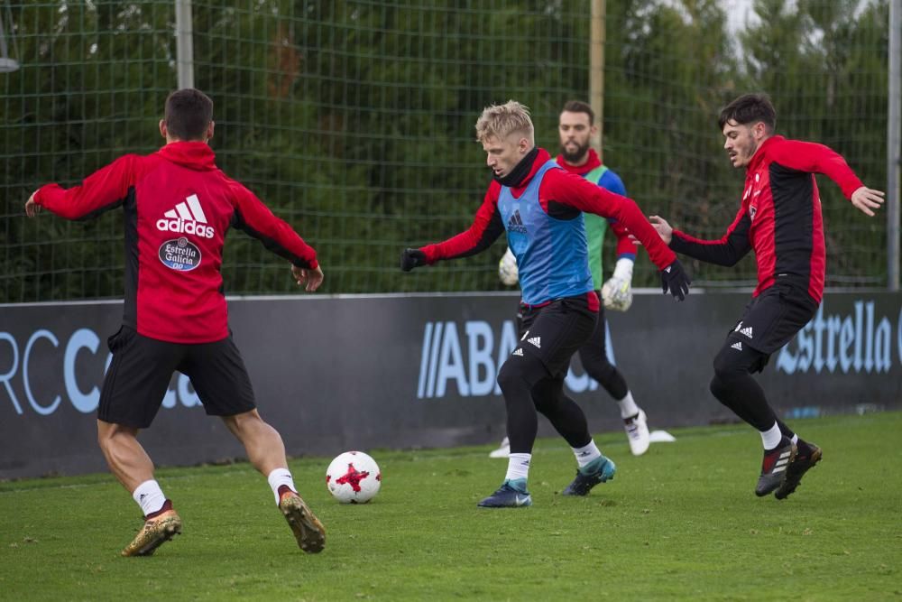
<path fill-rule="evenodd" d="M 153 480 L 153 462 L 137 440 L 133 427 L 97 421 L 97 442 L 110 471 L 141 506 L 144 524 L 123 556 L 150 556 L 181 533 L 181 518 Z"/>

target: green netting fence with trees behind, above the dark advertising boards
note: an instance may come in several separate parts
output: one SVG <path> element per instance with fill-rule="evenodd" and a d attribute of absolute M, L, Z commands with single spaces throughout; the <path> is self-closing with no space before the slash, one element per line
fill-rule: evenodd
<path fill-rule="evenodd" d="M 886 0 L 606 3 L 604 160 L 647 214 L 721 236 L 742 174 L 716 116 L 766 90 L 778 131 L 843 153 L 886 181 Z M 749 18 L 737 24 L 742 8 Z M 761 19 L 760 15 L 766 15 Z M 122 294 L 122 215 L 23 217 L 47 181 L 73 185 L 122 153 L 151 153 L 176 88 L 175 6 L 0 0 L 0 301 Z M 589 88 L 584 0 L 194 0 L 195 85 L 216 102 L 217 162 L 316 246 L 325 292 L 501 290 L 503 240 L 483 255 L 401 274 L 400 249 L 468 227 L 489 181 L 482 108 L 531 107 L 557 151 L 557 114 Z M 828 284 L 886 282 L 886 222 L 819 180 Z M 226 292 L 295 290 L 285 264 L 232 233 Z M 608 264 L 612 262 L 608 261 Z M 754 282 L 751 258 L 691 264 L 695 282 Z M 657 276 L 641 258 L 636 284 Z"/>

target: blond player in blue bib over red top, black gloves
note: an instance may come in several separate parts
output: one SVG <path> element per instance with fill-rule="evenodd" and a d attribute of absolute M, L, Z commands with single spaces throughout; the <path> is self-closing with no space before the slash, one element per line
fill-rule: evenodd
<path fill-rule="evenodd" d="M 598 297 L 589 272 L 583 211 L 616 218 L 639 238 L 661 270 L 664 292 L 682 301 L 689 280 L 636 204 L 567 173 L 534 142 L 526 107 L 513 100 L 487 107 L 476 122 L 494 180 L 468 230 L 435 245 L 405 249 L 401 269 L 474 255 L 504 230 L 517 257 L 522 291 L 520 345 L 498 374 L 511 440 L 507 475 L 483 507 L 531 505 L 529 462 L 542 412 L 574 451 L 568 488 L 585 495 L 612 477 L 612 462 L 595 446 L 580 407 L 564 394 L 570 357 L 595 329 Z"/>

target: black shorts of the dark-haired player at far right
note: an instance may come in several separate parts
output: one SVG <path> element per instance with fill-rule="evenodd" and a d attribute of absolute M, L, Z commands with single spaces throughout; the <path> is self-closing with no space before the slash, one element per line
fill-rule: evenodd
<path fill-rule="evenodd" d="M 778 282 L 745 306 L 742 318 L 727 335 L 727 344 L 751 347 L 770 355 L 786 345 L 817 312 L 817 303 L 802 286 Z"/>

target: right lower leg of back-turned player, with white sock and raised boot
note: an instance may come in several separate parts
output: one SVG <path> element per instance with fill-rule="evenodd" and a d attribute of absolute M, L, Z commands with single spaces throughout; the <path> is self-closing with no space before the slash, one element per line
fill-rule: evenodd
<path fill-rule="evenodd" d="M 308 553 L 323 551 L 326 546 L 326 528 L 298 495 L 279 431 L 264 422 L 256 410 L 226 416 L 223 421 L 244 445 L 253 468 L 267 477 L 276 505 L 285 516 L 299 548 Z"/>

